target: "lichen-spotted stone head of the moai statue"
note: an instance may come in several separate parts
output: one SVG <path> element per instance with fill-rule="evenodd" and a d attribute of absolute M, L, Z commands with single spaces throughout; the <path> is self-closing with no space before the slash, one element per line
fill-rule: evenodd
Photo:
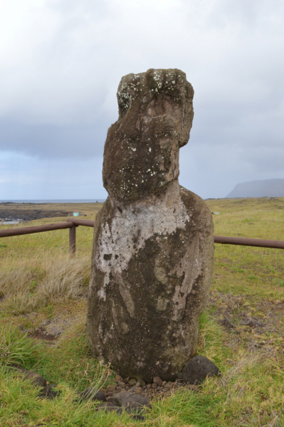
<path fill-rule="evenodd" d="M 112 199 L 140 200 L 179 176 L 179 148 L 189 140 L 194 90 L 180 70 L 122 78 L 119 118 L 107 132 L 103 183 Z"/>

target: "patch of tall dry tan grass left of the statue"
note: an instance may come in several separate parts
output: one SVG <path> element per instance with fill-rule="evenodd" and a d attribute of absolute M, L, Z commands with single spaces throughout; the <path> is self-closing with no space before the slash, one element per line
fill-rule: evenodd
<path fill-rule="evenodd" d="M 48 303 L 75 299 L 86 292 L 90 257 L 70 258 L 42 251 L 32 258 L 6 258 L 1 263 L 2 312 L 31 312 Z"/>

